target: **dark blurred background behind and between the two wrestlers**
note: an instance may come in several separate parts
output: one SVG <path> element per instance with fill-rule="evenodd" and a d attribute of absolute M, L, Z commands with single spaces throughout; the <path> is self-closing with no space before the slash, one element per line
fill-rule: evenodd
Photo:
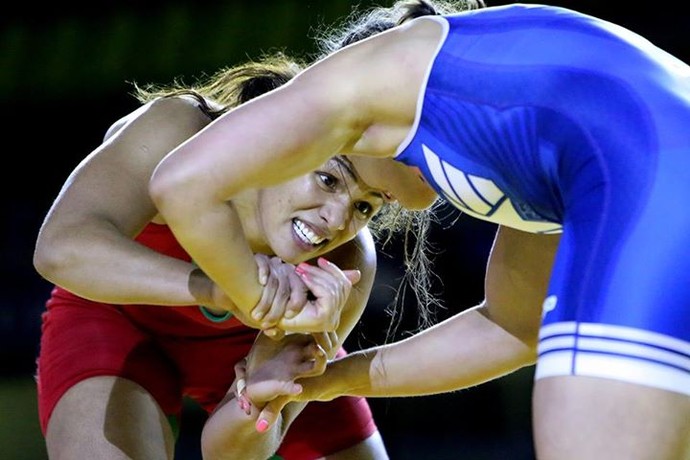
<path fill-rule="evenodd" d="M 50 285 L 33 270 L 39 225 L 69 172 L 118 117 L 136 107 L 131 82 L 168 83 L 286 50 L 308 56 L 323 24 L 350 13 L 342 0 L 106 0 L 14 3 L 0 15 L 0 101 L 5 158 L 0 296 L 0 458 L 43 460 L 37 421 L 35 358 L 40 315 Z M 490 6 L 506 1 L 488 1 Z M 690 20 L 680 4 L 555 1 L 641 32 L 690 59 Z M 360 6 L 389 5 L 362 1 Z M 432 229 L 438 319 L 482 299 L 482 278 L 495 227 L 442 209 Z M 449 227 L 453 227 L 449 231 Z M 356 349 L 382 343 L 384 314 L 401 274 L 395 245 L 381 255 L 379 284 L 348 340 Z M 397 338 L 416 326 L 406 302 Z M 442 350 L 439 350 L 442 352 Z M 462 365 L 462 363 L 457 363 Z M 410 366 L 414 366 L 411 362 Z M 391 457 L 531 459 L 532 368 L 461 392 L 371 404 Z M 430 376 L 430 378 L 433 378 Z M 204 414 L 187 405 L 178 458 L 196 460 Z M 327 421 L 325 422 L 327 423 Z M 82 460 L 82 459 L 75 459 Z"/>

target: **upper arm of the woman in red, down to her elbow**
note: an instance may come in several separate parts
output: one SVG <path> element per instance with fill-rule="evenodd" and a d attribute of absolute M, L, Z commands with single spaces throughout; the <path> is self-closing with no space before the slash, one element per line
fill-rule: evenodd
<path fill-rule="evenodd" d="M 110 244 L 141 231 L 156 215 L 148 194 L 153 169 L 208 123 L 204 119 L 190 101 L 160 99 L 114 123 L 54 200 L 36 240 L 37 270 L 60 270 L 65 261 L 77 260 L 87 243 Z"/>

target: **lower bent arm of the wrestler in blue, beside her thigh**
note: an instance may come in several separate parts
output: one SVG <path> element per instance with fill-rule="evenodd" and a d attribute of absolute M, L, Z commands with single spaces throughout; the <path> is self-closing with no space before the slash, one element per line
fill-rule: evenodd
<path fill-rule="evenodd" d="M 443 393 L 534 363 L 541 304 L 558 241 L 557 236 L 500 228 L 482 305 L 408 339 L 334 361 L 322 376 L 302 382 L 300 399 Z"/>

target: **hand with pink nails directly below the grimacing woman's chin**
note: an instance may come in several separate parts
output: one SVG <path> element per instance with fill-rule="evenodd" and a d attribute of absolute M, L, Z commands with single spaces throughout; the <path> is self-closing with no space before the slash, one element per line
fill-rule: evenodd
<path fill-rule="evenodd" d="M 307 300 L 297 316 L 284 317 L 280 321 L 280 328 L 302 333 L 336 331 L 352 286 L 361 278 L 359 270 L 341 270 L 320 257 L 317 266 L 301 263 L 295 267 L 295 272 L 312 298 Z"/>

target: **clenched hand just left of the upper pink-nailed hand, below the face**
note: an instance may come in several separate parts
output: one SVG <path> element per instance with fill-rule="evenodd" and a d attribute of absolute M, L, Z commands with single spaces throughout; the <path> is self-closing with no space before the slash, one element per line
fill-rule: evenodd
<path fill-rule="evenodd" d="M 255 254 L 259 282 L 264 286 L 261 299 L 251 312 L 267 335 L 279 339 L 282 331 L 275 326 L 282 318 L 292 318 L 307 301 L 307 286 L 295 272 L 295 266 L 278 257 Z"/>

